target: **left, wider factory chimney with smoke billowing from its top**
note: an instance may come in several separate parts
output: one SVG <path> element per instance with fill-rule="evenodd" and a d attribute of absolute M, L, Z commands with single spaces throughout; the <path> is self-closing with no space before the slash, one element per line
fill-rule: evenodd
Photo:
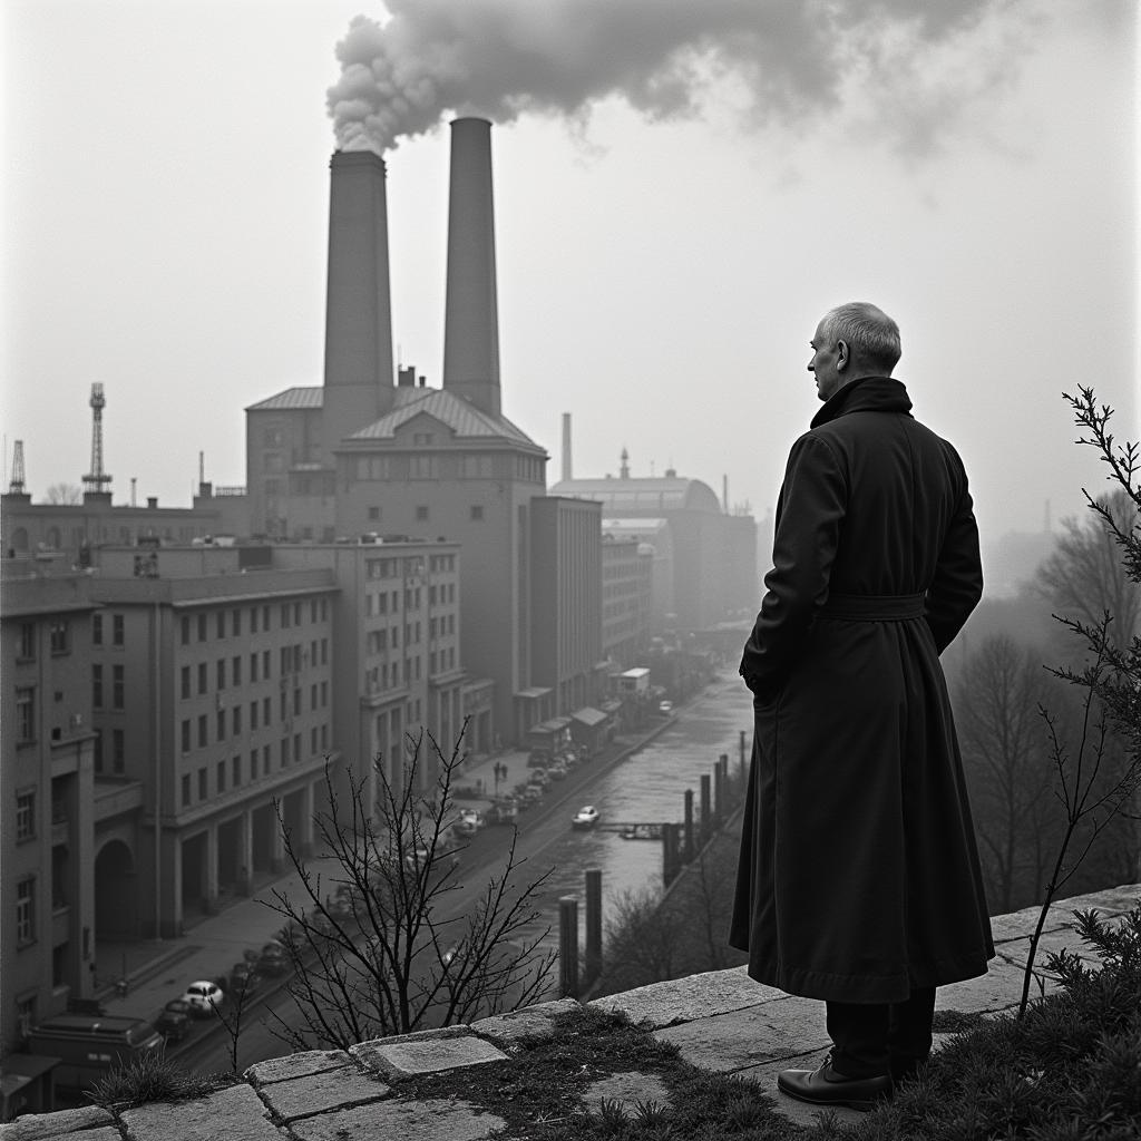
<path fill-rule="evenodd" d="M 343 437 L 393 406 L 385 160 L 338 151 L 329 163 L 323 466 Z"/>

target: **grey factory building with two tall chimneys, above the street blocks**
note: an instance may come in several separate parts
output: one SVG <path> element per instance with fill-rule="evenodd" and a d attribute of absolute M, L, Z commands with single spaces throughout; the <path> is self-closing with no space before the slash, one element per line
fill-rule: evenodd
<path fill-rule="evenodd" d="M 573 712 L 566 702 L 600 696 L 600 602 L 580 613 L 563 599 L 597 599 L 601 574 L 597 539 L 564 542 L 559 558 L 543 548 L 589 512 L 540 502 L 547 452 L 502 411 L 491 124 L 452 124 L 439 388 L 411 367 L 394 383 L 383 160 L 338 152 L 330 169 L 324 383 L 246 408 L 252 531 L 293 542 L 459 543 L 462 664 L 493 683 L 493 735 L 518 741 L 529 725 Z M 552 597 L 564 615 L 556 623 L 536 609 Z M 487 691 L 469 696 L 485 702 Z"/>

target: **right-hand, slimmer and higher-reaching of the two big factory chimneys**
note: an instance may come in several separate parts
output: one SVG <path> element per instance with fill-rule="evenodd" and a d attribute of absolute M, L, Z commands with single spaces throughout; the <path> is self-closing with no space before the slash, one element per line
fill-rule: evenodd
<path fill-rule="evenodd" d="M 492 124 L 452 122 L 444 388 L 500 414 Z"/>

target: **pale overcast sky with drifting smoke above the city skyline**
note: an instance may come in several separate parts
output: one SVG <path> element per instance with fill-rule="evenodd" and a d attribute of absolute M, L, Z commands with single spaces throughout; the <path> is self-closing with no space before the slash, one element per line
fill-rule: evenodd
<path fill-rule="evenodd" d="M 1138 435 L 1136 50 L 1134 0 L 5 0 L 3 485 L 16 439 L 33 496 L 80 483 L 94 381 L 116 502 L 188 504 L 200 451 L 245 482 L 243 408 L 322 380 L 335 88 L 430 385 L 446 122 L 496 118 L 503 408 L 551 483 L 569 412 L 576 476 L 626 447 L 763 517 L 816 322 L 871 300 L 985 534 L 1057 525 L 1104 486 L 1061 391 Z"/>

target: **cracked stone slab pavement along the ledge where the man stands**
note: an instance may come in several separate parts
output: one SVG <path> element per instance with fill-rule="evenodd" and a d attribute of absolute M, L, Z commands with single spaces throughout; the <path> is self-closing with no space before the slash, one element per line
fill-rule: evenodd
<path fill-rule="evenodd" d="M 1071 930 L 1074 911 L 1094 908 L 1103 917 L 1122 915 L 1139 897 L 1141 884 L 1134 883 L 1055 903 L 1044 926 L 1038 962 L 1063 946 L 1075 953 L 1085 949 Z M 981 978 L 940 987 L 937 1010 L 995 1014 L 1015 1006 L 1037 917 L 1036 907 L 994 916 L 997 958 Z M 1042 977 L 1044 990 L 1053 985 Z M 736 968 L 608 995 L 590 1005 L 625 1013 L 656 1038 L 673 1043 L 695 1066 L 758 1082 L 774 1098 L 778 1112 L 806 1128 L 817 1124 L 818 1109 L 777 1093 L 776 1073 L 819 1065 L 828 1045 L 823 1003 L 761 986 Z M 448 1093 L 447 1075 L 470 1066 L 500 1065 L 505 1070 L 502 1087 L 509 1087 L 507 1070 L 520 1038 L 555 1034 L 556 1017 L 575 1010 L 581 1010 L 578 1003 L 565 998 L 469 1026 L 359 1043 L 347 1052 L 310 1051 L 270 1059 L 250 1067 L 238 1084 L 189 1102 L 25 1115 L 0 1125 L 0 1141 L 212 1141 L 219 1136 L 230 1141 L 378 1136 L 478 1141 L 492 1138 L 505 1123 L 494 1104 L 471 1104 L 460 1087 Z M 583 1049 L 589 1051 L 589 1045 Z M 586 1053 L 583 1066 L 589 1062 Z M 436 1100 L 402 1095 L 402 1082 L 416 1074 L 440 1076 Z M 669 1097 L 656 1074 L 606 1075 L 584 1092 L 583 1108 L 607 1098 L 634 1114 L 639 1104 L 662 1103 Z M 855 1122 L 861 1115 L 841 1109 L 836 1116 Z"/>

